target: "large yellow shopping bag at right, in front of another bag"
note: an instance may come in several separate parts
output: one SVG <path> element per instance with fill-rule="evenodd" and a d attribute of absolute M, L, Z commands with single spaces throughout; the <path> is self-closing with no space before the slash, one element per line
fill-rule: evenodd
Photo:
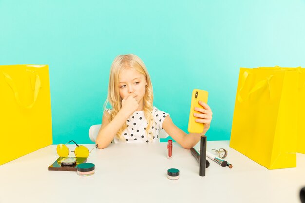
<path fill-rule="evenodd" d="M 230 147 L 268 169 L 296 167 L 295 70 L 241 68 Z"/>

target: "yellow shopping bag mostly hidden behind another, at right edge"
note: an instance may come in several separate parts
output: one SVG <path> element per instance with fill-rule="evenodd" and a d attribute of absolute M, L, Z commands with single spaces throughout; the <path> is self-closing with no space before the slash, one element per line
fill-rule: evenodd
<path fill-rule="evenodd" d="M 297 93 L 297 113 L 298 113 L 298 127 L 297 127 L 297 150 L 296 152 L 305 154 L 305 69 L 284 68 L 284 67 L 259 67 L 260 69 L 272 69 L 280 71 L 296 71 L 298 73 L 298 93 Z"/>

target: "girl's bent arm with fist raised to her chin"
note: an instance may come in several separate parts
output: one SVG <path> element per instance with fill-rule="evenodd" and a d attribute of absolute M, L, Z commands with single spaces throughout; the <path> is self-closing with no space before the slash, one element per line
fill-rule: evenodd
<path fill-rule="evenodd" d="M 98 148 L 107 148 L 114 136 L 122 128 L 128 117 L 135 112 L 139 106 L 134 98 L 135 94 L 130 94 L 122 100 L 122 109 L 116 114 L 114 119 L 109 122 L 109 113 L 104 111 L 102 126 L 96 138 Z"/>

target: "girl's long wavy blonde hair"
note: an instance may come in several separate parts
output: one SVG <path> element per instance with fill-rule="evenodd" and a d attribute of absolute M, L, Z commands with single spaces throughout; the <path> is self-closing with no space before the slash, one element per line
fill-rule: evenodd
<path fill-rule="evenodd" d="M 145 76 L 147 85 L 145 88 L 145 94 L 143 98 L 144 102 L 144 116 L 147 120 L 147 127 L 146 127 L 146 135 L 152 140 L 152 132 L 150 130 L 153 117 L 152 117 L 152 101 L 153 101 L 153 91 L 152 91 L 152 82 L 148 71 L 145 67 L 143 61 L 137 56 L 133 54 L 126 54 L 126 55 L 118 55 L 114 59 L 111 64 L 110 74 L 109 74 L 109 85 L 108 85 L 108 96 L 104 105 L 106 109 L 107 104 L 109 103 L 112 106 L 112 110 L 110 111 L 109 122 L 114 119 L 117 113 L 122 108 L 122 98 L 120 97 L 119 93 L 119 79 L 120 73 L 125 69 L 134 69 L 140 74 Z M 117 132 L 116 136 L 119 140 L 124 140 L 122 137 L 122 132 L 127 128 L 127 124 L 122 126 L 122 128 Z"/>

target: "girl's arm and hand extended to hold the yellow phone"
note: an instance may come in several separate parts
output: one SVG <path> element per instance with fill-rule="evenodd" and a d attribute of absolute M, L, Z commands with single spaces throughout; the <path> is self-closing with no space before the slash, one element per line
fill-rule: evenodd
<path fill-rule="evenodd" d="M 196 122 L 204 123 L 204 129 L 202 133 L 186 134 L 172 122 L 170 116 L 166 116 L 162 124 L 162 128 L 166 131 L 166 133 L 168 133 L 172 139 L 174 139 L 177 143 L 186 149 L 194 147 L 199 142 L 200 136 L 205 135 L 210 128 L 210 123 L 213 115 L 212 110 L 204 102 L 199 101 L 199 104 L 203 108 L 195 108 L 195 111 L 198 111 L 199 113 L 195 113 L 194 116 L 197 117 Z"/>

